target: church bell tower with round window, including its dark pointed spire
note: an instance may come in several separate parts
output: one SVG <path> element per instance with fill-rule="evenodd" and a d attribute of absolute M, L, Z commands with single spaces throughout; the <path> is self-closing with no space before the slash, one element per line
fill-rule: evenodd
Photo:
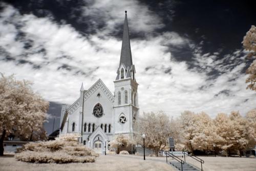
<path fill-rule="evenodd" d="M 129 27 L 125 11 L 123 24 L 122 49 L 119 68 L 117 69 L 114 102 L 115 134 L 127 134 L 133 137 L 134 123 L 139 115 L 138 83 L 135 78 Z"/>

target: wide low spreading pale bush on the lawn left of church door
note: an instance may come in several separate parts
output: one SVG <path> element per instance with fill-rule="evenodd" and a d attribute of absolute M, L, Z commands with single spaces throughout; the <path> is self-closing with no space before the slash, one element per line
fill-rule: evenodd
<path fill-rule="evenodd" d="M 77 135 L 60 136 L 54 141 L 30 142 L 17 149 L 15 158 L 32 163 L 94 162 L 99 155 L 77 142 Z"/>

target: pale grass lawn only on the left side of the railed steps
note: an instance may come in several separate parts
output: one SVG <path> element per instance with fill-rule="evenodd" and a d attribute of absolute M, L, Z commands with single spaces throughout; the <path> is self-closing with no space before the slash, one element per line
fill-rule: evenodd
<path fill-rule="evenodd" d="M 175 170 L 164 160 L 134 155 L 100 155 L 94 163 L 35 164 L 16 161 L 13 155 L 0 157 L 0 170 Z"/>

